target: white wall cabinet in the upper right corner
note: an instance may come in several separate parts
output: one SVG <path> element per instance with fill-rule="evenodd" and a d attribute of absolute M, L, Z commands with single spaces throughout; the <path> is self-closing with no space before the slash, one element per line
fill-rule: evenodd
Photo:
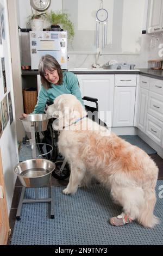
<path fill-rule="evenodd" d="M 163 31 L 163 1 L 149 0 L 147 15 L 147 33 L 159 33 Z"/>

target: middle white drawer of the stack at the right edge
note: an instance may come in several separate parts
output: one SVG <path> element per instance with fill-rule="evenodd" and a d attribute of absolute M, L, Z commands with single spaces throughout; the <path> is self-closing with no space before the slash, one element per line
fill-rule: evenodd
<path fill-rule="evenodd" d="M 147 112 L 163 122 L 163 95 L 149 91 Z"/>

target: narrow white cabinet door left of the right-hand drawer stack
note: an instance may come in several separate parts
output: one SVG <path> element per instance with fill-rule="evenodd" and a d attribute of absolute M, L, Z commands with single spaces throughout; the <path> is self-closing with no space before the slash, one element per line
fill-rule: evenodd
<path fill-rule="evenodd" d="M 142 132 L 146 131 L 146 115 L 148 106 L 148 90 L 140 88 L 139 91 L 139 106 L 137 113 L 137 128 Z"/>

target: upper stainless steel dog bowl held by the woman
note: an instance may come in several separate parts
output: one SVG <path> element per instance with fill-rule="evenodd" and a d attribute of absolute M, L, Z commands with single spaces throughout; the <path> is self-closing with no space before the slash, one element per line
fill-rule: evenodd
<path fill-rule="evenodd" d="M 35 126 L 35 132 L 47 130 L 48 118 L 47 114 L 29 114 L 26 118 L 20 118 L 26 132 L 31 132 L 30 126 Z"/>

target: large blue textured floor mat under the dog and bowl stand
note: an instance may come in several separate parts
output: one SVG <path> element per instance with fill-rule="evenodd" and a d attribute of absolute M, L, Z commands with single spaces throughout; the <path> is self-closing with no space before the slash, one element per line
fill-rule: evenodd
<path fill-rule="evenodd" d="M 11 245 L 163 245 L 163 180 L 157 182 L 155 215 L 160 223 L 144 228 L 136 222 L 123 227 L 108 223 L 121 213 L 101 185 L 79 188 L 73 196 L 65 196 L 64 187 L 55 187 L 55 218 L 49 218 L 48 203 L 23 204 L 21 220 L 15 222 Z M 47 197 L 48 188 L 39 188 Z M 26 197 L 34 197 L 34 188 L 26 189 Z"/>

